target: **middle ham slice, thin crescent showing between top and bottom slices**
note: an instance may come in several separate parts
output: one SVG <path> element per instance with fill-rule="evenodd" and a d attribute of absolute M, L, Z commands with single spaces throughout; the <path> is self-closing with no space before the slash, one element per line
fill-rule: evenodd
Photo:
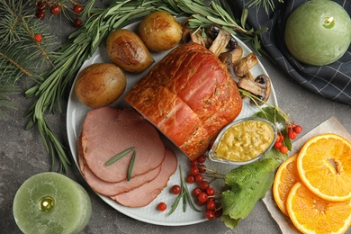
<path fill-rule="evenodd" d="M 89 184 L 89 186 L 94 189 L 96 193 L 100 193 L 105 196 L 114 196 L 120 193 L 129 192 L 130 190 L 155 179 L 161 171 L 161 165 L 159 165 L 146 174 L 132 177 L 129 181 L 122 180 L 121 182 L 117 183 L 108 183 L 94 175 L 89 166 L 85 166 L 85 160 L 83 157 L 79 157 L 79 167 L 80 171 L 85 177 L 86 183 Z"/>

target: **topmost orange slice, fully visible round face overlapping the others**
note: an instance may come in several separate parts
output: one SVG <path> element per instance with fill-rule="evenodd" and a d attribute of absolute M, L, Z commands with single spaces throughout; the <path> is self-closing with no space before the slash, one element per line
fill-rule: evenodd
<path fill-rule="evenodd" d="M 351 199 L 351 142 L 334 133 L 309 139 L 296 159 L 302 183 L 328 201 Z"/>

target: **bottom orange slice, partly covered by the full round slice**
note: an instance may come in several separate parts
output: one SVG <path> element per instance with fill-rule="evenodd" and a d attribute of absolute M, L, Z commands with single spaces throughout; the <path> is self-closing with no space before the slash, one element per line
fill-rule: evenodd
<path fill-rule="evenodd" d="M 345 233 L 351 224 L 351 200 L 320 199 L 301 182 L 293 185 L 286 209 L 294 226 L 302 233 Z"/>

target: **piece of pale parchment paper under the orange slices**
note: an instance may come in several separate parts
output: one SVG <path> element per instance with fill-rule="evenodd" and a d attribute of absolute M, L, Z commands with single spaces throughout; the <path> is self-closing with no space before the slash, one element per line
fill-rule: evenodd
<path fill-rule="evenodd" d="M 328 132 L 336 133 L 351 141 L 351 134 L 342 126 L 342 124 L 337 120 L 337 118 L 331 117 L 329 120 L 322 122 L 315 129 L 306 133 L 304 136 L 302 136 L 301 139 L 297 139 L 296 141 L 294 141 L 292 151 L 289 155 L 291 156 L 295 154 L 300 148 L 302 148 L 302 145 L 308 139 L 311 139 L 311 137 Z M 280 211 L 279 208 L 276 206 L 271 190 L 266 193 L 266 197 L 263 199 L 263 202 L 265 202 L 268 211 L 278 223 L 280 229 L 284 234 L 300 233 L 300 231 L 293 226 L 293 222 L 286 215 L 284 215 L 284 213 Z"/>

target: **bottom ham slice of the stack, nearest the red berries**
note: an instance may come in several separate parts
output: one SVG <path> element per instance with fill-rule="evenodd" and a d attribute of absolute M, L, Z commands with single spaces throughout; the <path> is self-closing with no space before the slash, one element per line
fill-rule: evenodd
<path fill-rule="evenodd" d="M 166 158 L 161 165 L 161 171 L 157 177 L 135 188 L 127 193 L 121 193 L 111 198 L 121 205 L 128 207 L 143 207 L 152 202 L 159 193 L 166 187 L 171 175 L 175 173 L 177 167 L 177 159 L 175 153 L 166 148 Z"/>

